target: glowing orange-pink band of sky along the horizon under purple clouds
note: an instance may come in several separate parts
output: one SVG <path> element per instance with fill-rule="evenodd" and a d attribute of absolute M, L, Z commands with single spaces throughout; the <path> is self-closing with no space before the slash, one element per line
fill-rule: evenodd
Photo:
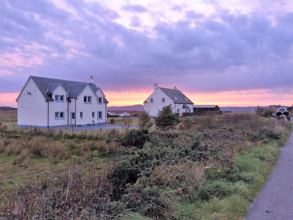
<path fill-rule="evenodd" d="M 182 91 L 195 105 L 215 104 L 220 107 L 226 106 L 268 106 L 282 104 L 284 106 L 292 106 L 292 96 L 289 98 L 279 97 L 279 94 L 272 94 L 268 90 L 253 89 L 241 91 L 226 92 L 197 92 L 190 93 Z M 105 91 L 106 98 L 109 101 L 108 106 L 129 106 L 143 104 L 143 102 L 151 95 L 151 90 L 144 91 Z M 0 93 L 0 106 L 17 107 L 15 101 L 18 97 L 16 93 Z"/>

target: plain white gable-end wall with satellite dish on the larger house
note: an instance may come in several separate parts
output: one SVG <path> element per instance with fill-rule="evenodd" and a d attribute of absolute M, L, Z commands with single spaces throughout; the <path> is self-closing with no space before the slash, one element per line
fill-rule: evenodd
<path fill-rule="evenodd" d="M 27 92 L 30 92 L 30 95 Z M 23 93 L 18 98 L 17 124 L 47 126 L 47 104 L 35 82 L 29 78 Z"/>

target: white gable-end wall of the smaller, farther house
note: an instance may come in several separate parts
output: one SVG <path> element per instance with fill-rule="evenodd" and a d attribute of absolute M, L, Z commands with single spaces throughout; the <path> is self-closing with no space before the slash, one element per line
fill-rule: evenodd
<path fill-rule="evenodd" d="M 151 98 L 154 99 L 154 102 L 151 102 Z M 162 102 L 162 98 L 165 98 L 165 102 Z M 164 106 L 170 105 L 173 108 L 173 112 L 176 110 L 174 109 L 175 104 L 172 99 L 170 99 L 159 87 L 155 89 L 153 94 L 146 100 L 147 102 L 144 103 L 144 110 L 149 111 L 151 116 L 156 117 L 158 115 L 158 110 L 161 110 Z"/>

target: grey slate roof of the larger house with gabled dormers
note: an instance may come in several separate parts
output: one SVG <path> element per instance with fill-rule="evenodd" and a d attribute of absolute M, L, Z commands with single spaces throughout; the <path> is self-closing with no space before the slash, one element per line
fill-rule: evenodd
<path fill-rule="evenodd" d="M 54 101 L 50 97 L 47 92 L 54 91 L 59 84 L 61 84 L 64 89 L 68 92 L 68 98 L 76 98 L 79 96 L 79 94 L 84 90 L 86 85 L 90 85 L 90 87 L 93 89 L 94 92 L 97 92 L 99 87 L 96 86 L 96 84 L 93 83 L 86 83 L 86 82 L 77 82 L 77 81 L 71 81 L 71 80 L 64 80 L 64 79 L 53 79 L 53 78 L 47 78 L 47 77 L 39 77 L 39 76 L 30 76 L 37 87 L 40 89 L 42 95 L 45 97 L 46 101 Z M 67 99 L 68 101 L 69 99 Z M 104 102 L 108 103 L 107 99 L 104 98 Z"/>

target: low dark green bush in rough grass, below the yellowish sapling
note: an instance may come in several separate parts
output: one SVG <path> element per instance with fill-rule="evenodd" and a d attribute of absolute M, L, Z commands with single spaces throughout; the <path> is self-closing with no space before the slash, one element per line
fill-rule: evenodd
<path fill-rule="evenodd" d="M 142 148 L 144 143 L 149 141 L 149 139 L 149 130 L 139 129 L 128 131 L 120 141 L 121 144 L 125 147 L 135 146 L 138 148 Z"/>

